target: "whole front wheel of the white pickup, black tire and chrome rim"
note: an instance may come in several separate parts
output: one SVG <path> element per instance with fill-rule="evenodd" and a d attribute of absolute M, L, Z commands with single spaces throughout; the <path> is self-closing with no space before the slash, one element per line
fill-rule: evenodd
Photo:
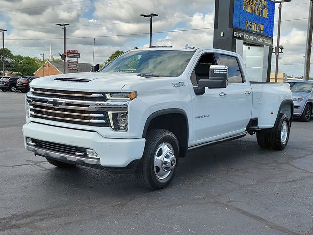
<path fill-rule="evenodd" d="M 149 131 L 140 165 L 136 171 L 139 184 L 148 189 L 166 188 L 179 166 L 179 142 L 164 129 Z"/>

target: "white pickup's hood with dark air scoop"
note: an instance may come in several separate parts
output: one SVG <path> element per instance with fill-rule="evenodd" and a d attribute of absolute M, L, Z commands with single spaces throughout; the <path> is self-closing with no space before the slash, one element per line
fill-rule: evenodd
<path fill-rule="evenodd" d="M 143 79 L 130 73 L 84 72 L 37 78 L 31 81 L 30 86 L 68 91 L 120 92 L 126 84 Z"/>

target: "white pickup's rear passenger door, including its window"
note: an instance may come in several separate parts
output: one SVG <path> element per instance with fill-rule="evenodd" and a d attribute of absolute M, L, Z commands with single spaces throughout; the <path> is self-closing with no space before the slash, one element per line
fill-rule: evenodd
<path fill-rule="evenodd" d="M 217 57 L 220 65 L 228 67 L 227 125 L 230 133 L 240 133 L 245 131 L 251 119 L 251 85 L 244 77 L 238 57 L 226 54 Z"/>

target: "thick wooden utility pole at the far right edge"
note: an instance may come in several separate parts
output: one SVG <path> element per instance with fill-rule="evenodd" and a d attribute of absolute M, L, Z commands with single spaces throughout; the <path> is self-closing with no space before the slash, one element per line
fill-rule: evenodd
<path fill-rule="evenodd" d="M 310 78 L 310 61 L 311 61 L 311 47 L 312 47 L 312 31 L 313 31 L 313 0 L 310 0 L 309 8 L 309 20 L 308 20 L 308 33 L 307 33 L 307 43 L 305 50 L 305 62 L 304 62 L 304 80 L 309 80 Z"/>

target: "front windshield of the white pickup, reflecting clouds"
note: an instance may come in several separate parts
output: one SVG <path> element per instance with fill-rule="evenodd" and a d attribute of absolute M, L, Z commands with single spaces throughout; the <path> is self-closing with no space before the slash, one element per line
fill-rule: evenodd
<path fill-rule="evenodd" d="M 129 51 L 103 67 L 99 72 L 126 72 L 145 77 L 177 77 L 185 70 L 193 51 Z"/>

